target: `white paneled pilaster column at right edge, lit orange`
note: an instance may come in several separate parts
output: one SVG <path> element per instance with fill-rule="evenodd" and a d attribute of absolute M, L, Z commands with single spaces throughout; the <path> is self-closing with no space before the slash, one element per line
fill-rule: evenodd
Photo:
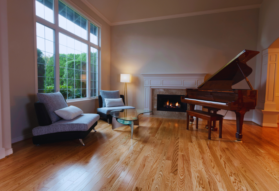
<path fill-rule="evenodd" d="M 262 79 L 261 79 L 261 95 L 260 108 L 257 109 L 262 115 L 262 126 L 277 128 L 277 115 L 275 95 L 276 95 L 276 79 L 278 68 L 279 49 L 265 49 L 263 51 Z"/>

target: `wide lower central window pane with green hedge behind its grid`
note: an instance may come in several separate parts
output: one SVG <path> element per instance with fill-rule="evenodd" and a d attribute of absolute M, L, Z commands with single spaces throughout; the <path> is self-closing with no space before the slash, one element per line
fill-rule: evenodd
<path fill-rule="evenodd" d="M 65 99 L 87 97 L 87 50 L 86 44 L 59 33 L 60 92 Z"/>

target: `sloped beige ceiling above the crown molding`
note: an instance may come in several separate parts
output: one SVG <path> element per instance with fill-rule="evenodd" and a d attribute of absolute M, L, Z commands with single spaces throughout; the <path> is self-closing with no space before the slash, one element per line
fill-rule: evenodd
<path fill-rule="evenodd" d="M 109 22 L 260 4 L 263 0 L 83 0 Z"/>

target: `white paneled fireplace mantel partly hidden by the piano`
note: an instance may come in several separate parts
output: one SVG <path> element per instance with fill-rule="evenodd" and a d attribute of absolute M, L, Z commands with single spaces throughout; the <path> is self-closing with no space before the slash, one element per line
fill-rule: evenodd
<path fill-rule="evenodd" d="M 152 89 L 197 88 L 207 73 L 198 74 L 141 74 L 144 85 L 144 109 L 151 109 Z"/>

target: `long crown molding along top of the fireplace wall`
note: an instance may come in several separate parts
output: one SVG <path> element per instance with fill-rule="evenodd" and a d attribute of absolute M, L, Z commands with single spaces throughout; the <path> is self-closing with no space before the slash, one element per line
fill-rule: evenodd
<path fill-rule="evenodd" d="M 82 1 L 84 2 L 86 0 L 82 0 Z M 206 14 L 212 14 L 212 13 L 238 11 L 238 10 L 260 8 L 260 7 L 261 7 L 261 4 L 244 5 L 244 6 L 238 6 L 238 7 L 219 8 L 219 9 L 212 9 L 212 10 L 207 10 L 207 11 L 197 11 L 197 12 L 182 13 L 182 14 L 176 14 L 176 15 L 167 15 L 167 16 L 160 16 L 160 17 L 136 19 L 136 20 L 130 20 L 130 21 L 114 22 L 114 23 L 111 23 L 110 25 L 111 26 L 125 25 L 125 24 L 138 23 L 138 22 L 156 21 L 156 20 L 180 18 L 180 17 L 190 17 L 190 16 L 195 16 L 195 15 L 206 15 Z"/>

